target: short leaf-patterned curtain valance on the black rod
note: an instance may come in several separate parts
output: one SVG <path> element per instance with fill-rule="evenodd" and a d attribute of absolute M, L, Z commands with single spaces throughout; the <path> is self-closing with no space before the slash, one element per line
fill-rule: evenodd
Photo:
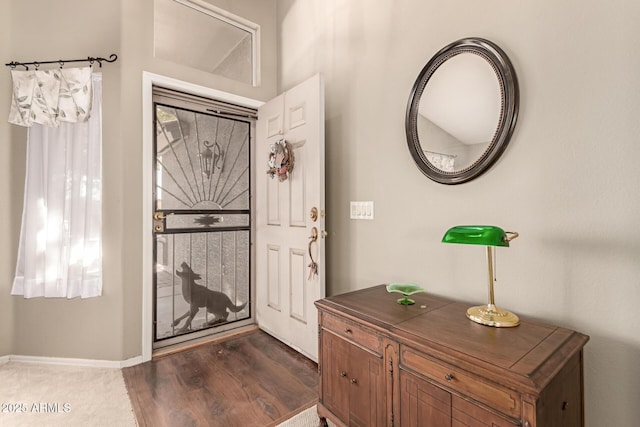
<path fill-rule="evenodd" d="M 57 127 L 85 122 L 92 104 L 91 67 L 11 70 L 13 93 L 9 123 Z"/>

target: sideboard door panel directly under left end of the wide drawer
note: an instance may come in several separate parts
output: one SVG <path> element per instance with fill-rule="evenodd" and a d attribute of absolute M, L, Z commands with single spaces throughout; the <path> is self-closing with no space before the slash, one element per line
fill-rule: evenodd
<path fill-rule="evenodd" d="M 451 426 L 451 394 L 400 370 L 400 425 Z"/>

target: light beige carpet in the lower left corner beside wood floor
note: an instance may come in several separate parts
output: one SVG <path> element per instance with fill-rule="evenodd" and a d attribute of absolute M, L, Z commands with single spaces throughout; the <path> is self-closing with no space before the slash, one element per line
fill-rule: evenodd
<path fill-rule="evenodd" d="M 136 426 L 120 369 L 0 364 L 0 405 L 0 426 Z"/>

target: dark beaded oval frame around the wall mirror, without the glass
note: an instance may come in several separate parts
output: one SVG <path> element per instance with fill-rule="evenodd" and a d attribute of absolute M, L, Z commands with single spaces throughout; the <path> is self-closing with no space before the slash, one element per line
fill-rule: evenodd
<path fill-rule="evenodd" d="M 448 172 L 433 165 L 424 153 L 424 145 L 421 144 L 418 135 L 418 108 L 427 83 L 436 70 L 445 61 L 462 53 L 478 55 L 493 68 L 500 87 L 500 117 L 487 149 L 464 169 Z M 516 125 L 519 101 L 518 80 L 513 65 L 504 51 L 495 43 L 478 37 L 470 37 L 445 46 L 427 62 L 418 75 L 409 96 L 405 130 L 409 151 L 414 161 L 422 173 L 441 184 L 462 184 L 477 178 L 486 172 L 507 148 Z"/>

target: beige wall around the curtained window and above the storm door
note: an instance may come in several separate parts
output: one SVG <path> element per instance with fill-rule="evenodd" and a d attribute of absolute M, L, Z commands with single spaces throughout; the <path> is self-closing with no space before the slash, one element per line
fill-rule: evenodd
<path fill-rule="evenodd" d="M 11 0 L 0 47 L 11 59 L 55 60 L 116 53 L 103 77 L 104 286 L 88 300 L 9 296 L 19 239 L 26 131 L 0 120 L 0 356 L 125 360 L 141 354 L 142 71 L 266 100 L 276 93 L 275 0 L 211 1 L 261 25 L 262 85 L 253 88 L 153 58 L 153 1 Z M 35 13 L 34 11 L 37 11 Z M 27 30 L 28 29 L 28 30 Z M 206 54 L 206 52 L 203 52 Z M 4 55 L 3 55 L 4 56 Z M 8 115 L 11 79 L 0 74 Z M 150 159 L 145 159 L 151 161 Z"/>

